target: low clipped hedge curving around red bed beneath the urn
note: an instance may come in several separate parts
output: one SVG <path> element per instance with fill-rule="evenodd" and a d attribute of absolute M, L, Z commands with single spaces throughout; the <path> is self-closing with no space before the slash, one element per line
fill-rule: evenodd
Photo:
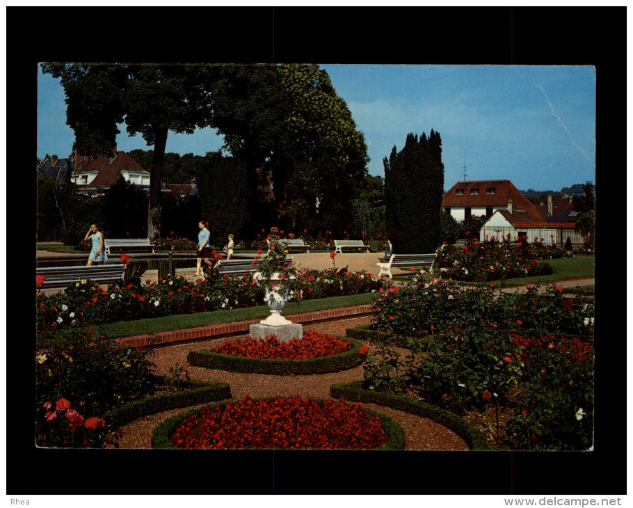
<path fill-rule="evenodd" d="M 248 374 L 272 374 L 273 376 L 303 376 L 309 374 L 327 374 L 358 367 L 365 356 L 358 352 L 362 346 L 358 340 L 339 337 L 351 343 L 351 349 L 340 354 L 305 358 L 301 360 L 267 360 L 264 358 L 248 358 L 214 353 L 206 349 L 189 351 L 187 363 L 195 367 L 228 370 L 230 372 L 246 372 Z"/>

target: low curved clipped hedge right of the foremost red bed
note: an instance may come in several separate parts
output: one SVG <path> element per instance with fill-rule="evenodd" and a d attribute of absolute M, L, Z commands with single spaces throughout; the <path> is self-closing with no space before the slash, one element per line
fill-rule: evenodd
<path fill-rule="evenodd" d="M 407 399 L 399 395 L 365 390 L 362 388 L 362 381 L 330 385 L 330 397 L 351 402 L 378 404 L 379 406 L 387 406 L 398 411 L 429 418 L 463 438 L 470 450 L 492 450 L 490 445 L 488 445 L 488 440 L 486 440 L 481 431 L 455 413 L 426 402 Z"/>

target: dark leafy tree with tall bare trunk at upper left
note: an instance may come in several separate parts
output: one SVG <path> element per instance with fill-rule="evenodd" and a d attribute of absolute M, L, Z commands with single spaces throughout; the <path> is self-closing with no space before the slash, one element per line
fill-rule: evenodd
<path fill-rule="evenodd" d="M 212 65 L 94 65 L 47 63 L 43 72 L 59 78 L 67 104 L 66 123 L 82 154 L 111 154 L 125 122 L 131 136 L 141 134 L 153 146 L 150 166 L 147 234 L 160 204 L 168 132 L 192 134 L 207 127 L 213 97 Z"/>

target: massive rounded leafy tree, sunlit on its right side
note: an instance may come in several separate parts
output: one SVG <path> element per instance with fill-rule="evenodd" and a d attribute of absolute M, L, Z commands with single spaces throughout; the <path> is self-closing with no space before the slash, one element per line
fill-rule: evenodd
<path fill-rule="evenodd" d="M 246 162 L 250 203 L 264 210 L 257 170 L 271 169 L 275 203 L 268 221 L 342 235 L 369 159 L 327 72 L 316 65 L 227 66 L 216 89 L 213 126 L 225 148 Z"/>

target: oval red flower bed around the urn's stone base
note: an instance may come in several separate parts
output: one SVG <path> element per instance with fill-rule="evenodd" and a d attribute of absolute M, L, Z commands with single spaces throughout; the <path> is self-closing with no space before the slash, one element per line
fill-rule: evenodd
<path fill-rule="evenodd" d="M 335 335 L 325 335 L 312 330 L 304 330 L 303 338 L 281 342 L 275 335 L 264 339 L 246 337 L 227 340 L 211 350 L 215 353 L 268 360 L 301 360 L 340 354 L 351 349 L 349 341 Z"/>

